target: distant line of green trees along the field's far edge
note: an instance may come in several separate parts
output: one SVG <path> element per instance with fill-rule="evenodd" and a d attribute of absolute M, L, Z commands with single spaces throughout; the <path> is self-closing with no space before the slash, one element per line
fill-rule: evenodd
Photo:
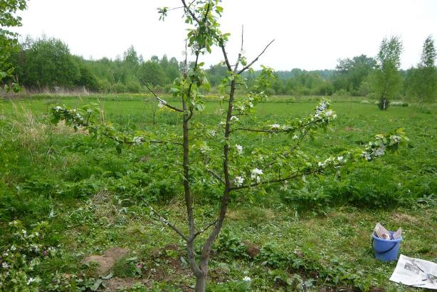
<path fill-rule="evenodd" d="M 133 46 L 111 60 L 85 60 L 70 53 L 68 46 L 56 38 L 27 38 L 10 53 L 9 64 L 14 74 L 3 80 L 19 82 L 29 90 L 83 87 L 102 93 L 139 93 L 144 91 L 140 80 L 155 90 L 167 93 L 184 67 L 177 58 L 166 55 L 144 60 Z M 275 95 L 352 95 L 387 100 L 408 98 L 433 102 L 437 95 L 436 49 L 429 36 L 423 43 L 421 60 L 416 67 L 400 70 L 402 43 L 399 37 L 384 38 L 376 58 L 366 55 L 339 59 L 332 70 L 305 71 L 294 68 L 277 71 L 269 94 Z M 206 70 L 211 90 L 226 78 L 227 68 L 219 63 Z M 257 72 L 244 78 L 255 80 Z M 384 101 L 385 100 L 385 101 Z"/>

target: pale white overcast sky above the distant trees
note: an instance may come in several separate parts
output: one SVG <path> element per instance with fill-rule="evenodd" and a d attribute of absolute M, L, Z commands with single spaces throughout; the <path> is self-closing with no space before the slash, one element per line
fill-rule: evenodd
<path fill-rule="evenodd" d="M 54 36 L 84 58 L 116 58 L 133 45 L 153 55 L 183 58 L 186 26 L 181 11 L 159 21 L 157 7 L 177 0 L 30 0 L 21 12 L 21 36 Z M 276 70 L 335 68 L 338 58 L 376 56 L 384 36 L 404 43 L 401 67 L 418 63 L 423 41 L 437 38 L 436 0 L 224 0 L 222 31 L 231 33 L 228 52 L 238 53 L 241 26 L 248 58 L 273 38 L 260 59 Z M 217 51 L 217 50 L 216 50 Z M 206 64 L 221 61 L 219 51 Z M 259 66 L 258 64 L 258 66 Z"/>

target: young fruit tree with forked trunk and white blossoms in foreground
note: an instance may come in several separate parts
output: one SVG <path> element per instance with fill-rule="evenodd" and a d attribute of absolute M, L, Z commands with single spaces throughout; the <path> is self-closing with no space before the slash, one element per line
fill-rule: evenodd
<path fill-rule="evenodd" d="M 223 11 L 219 6 L 220 1 L 198 0 L 191 1 L 190 4 L 181 2 L 180 9 L 184 11 L 185 22 L 189 26 L 186 46 L 191 50 L 194 61 L 189 66 L 186 56 L 184 72 L 180 78 L 174 80 L 172 95 L 180 100 L 180 105 L 168 103 L 149 89 L 157 98 L 159 108 L 180 114 L 181 132 L 144 130 L 133 135 L 120 132 L 116 127 L 96 118 L 95 110 L 89 106 L 83 109 L 56 106 L 52 113 L 53 122 L 65 120 L 66 125 L 72 125 L 76 129 L 83 127 L 96 137 L 108 137 L 116 142 L 120 151 L 122 145 L 151 147 L 153 144 L 156 145 L 154 147 L 165 147 L 160 153 L 179 155 L 179 160 L 175 160 L 172 168 L 179 170 L 179 180 L 184 188 L 186 227 L 177 226 L 182 222 L 170 223 L 159 214 L 159 210 L 146 204 L 155 217 L 184 240 L 189 266 L 196 277 L 195 289 L 205 291 L 211 249 L 222 229 L 232 193 L 235 196 L 244 195 L 244 190 L 262 190 L 266 185 L 286 185 L 291 179 L 302 179 L 305 175 L 324 174 L 331 170 L 336 171 L 337 168 L 339 171 L 354 161 L 363 158 L 373 160 L 374 157 L 383 155 L 386 150 L 395 150 L 399 143 L 406 141 L 406 137 L 398 130 L 392 135 L 378 135 L 377 140 L 367 145 L 364 151 L 345 151 L 324 160 L 310 157 L 300 149 L 300 142 L 318 130 L 326 129 L 337 117 L 330 109 L 329 100 L 321 100 L 315 112 L 307 118 L 290 119 L 283 124 L 270 122 L 267 125 L 251 120 L 257 103 L 266 98 L 265 89 L 268 88 L 273 71 L 263 66 L 251 88 L 248 88 L 242 75 L 246 71 L 252 71 L 253 63 L 258 61 L 273 41 L 249 62 L 243 55 L 241 33 L 241 52 L 238 53 L 236 61 L 231 63 L 226 52 L 229 34 L 219 30 L 218 19 Z M 172 10 L 167 7 L 159 9 L 161 19 Z M 204 63 L 200 58 L 211 53 L 213 48 L 221 50 L 228 76 L 220 86 L 221 121 L 216 125 L 204 125 L 195 119 L 196 113 L 204 110 L 202 92 L 209 89 L 205 71 L 202 69 Z M 239 88 L 245 88 L 247 93 L 237 96 Z M 275 150 L 258 147 L 253 143 L 243 145 L 249 133 L 258 133 L 265 137 L 287 135 L 290 143 Z M 199 226 L 200 220 L 194 216 L 194 197 L 196 194 L 209 197 L 208 192 L 219 193 L 219 207 L 217 214 L 211 215 L 215 219 L 209 224 Z M 195 246 L 201 246 L 200 253 L 196 253 Z"/>

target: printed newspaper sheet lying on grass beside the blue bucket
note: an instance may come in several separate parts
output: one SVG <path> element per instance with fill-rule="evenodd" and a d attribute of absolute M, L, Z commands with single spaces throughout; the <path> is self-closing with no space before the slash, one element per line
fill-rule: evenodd
<path fill-rule="evenodd" d="M 418 288 L 437 290 L 437 264 L 401 254 L 390 281 Z"/>

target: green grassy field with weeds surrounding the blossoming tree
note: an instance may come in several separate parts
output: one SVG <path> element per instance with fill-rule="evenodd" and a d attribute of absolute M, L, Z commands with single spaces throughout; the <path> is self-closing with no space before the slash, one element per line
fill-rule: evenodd
<path fill-rule="evenodd" d="M 248 123 L 303 117 L 317 100 L 273 97 L 257 105 Z M 184 229 L 179 170 L 167 162 L 177 159 L 177 150 L 125 147 L 118 154 L 110 140 L 50 124 L 52 106 L 90 103 L 120 130 L 177 132 L 181 127 L 177 113 L 159 110 L 144 95 L 0 100 L 0 250 L 25 241 L 16 239 L 14 229 L 21 235 L 21 229 L 45 234 L 26 239 L 28 245 L 53 246 L 35 256 L 35 267 L 26 271 L 47 290 L 189 291 L 194 278 L 183 242 L 144 204 L 145 199 Z M 217 124 L 219 102 L 211 98 L 205 107 L 196 119 Z M 374 135 L 399 127 L 409 144 L 362 162 L 347 175 L 307 177 L 288 189 L 269 186 L 266 192 L 253 189 L 233 197 L 214 246 L 209 291 L 414 290 L 389 281 L 395 263 L 374 259 L 370 234 L 378 221 L 389 229 L 402 227 L 401 254 L 437 261 L 437 105 L 381 111 L 357 98 L 333 100 L 332 109 L 339 117 L 332 130 L 301 147 L 320 159 L 363 148 Z M 245 149 L 290 143 L 280 135 L 237 139 Z M 217 194 L 196 190 L 196 218 L 206 224 L 216 212 Z M 19 220 L 16 226 L 9 224 L 14 220 Z M 93 265 L 81 263 L 111 247 L 129 254 L 110 276 L 98 278 Z"/>

